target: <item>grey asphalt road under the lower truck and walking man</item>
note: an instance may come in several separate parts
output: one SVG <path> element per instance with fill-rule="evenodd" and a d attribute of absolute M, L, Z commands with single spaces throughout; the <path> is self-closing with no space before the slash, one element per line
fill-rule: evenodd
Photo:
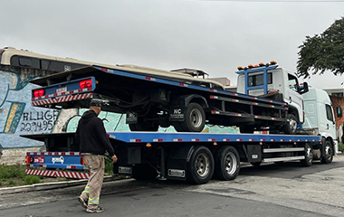
<path fill-rule="evenodd" d="M 97 216 L 344 216 L 344 156 L 315 162 L 244 167 L 230 182 L 121 180 L 103 185 Z M 83 186 L 0 195 L 0 216 L 84 216 Z M 88 215 L 88 214 L 87 214 Z M 90 214 L 91 215 L 91 214 Z"/>

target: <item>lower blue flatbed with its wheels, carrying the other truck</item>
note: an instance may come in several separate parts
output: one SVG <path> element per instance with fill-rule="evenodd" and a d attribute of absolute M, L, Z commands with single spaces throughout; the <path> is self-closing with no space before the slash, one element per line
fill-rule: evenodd
<path fill-rule="evenodd" d="M 73 144 L 73 136 L 74 133 L 22 136 L 44 141 L 47 147 L 46 152 L 27 153 L 31 168 L 26 174 L 48 175 L 50 171 L 48 176 L 87 178 L 83 155 Z M 108 132 L 108 137 L 119 157 L 114 165 L 116 174 L 195 184 L 205 184 L 213 175 L 220 180 L 233 180 L 239 174 L 240 162 L 260 165 L 301 160 L 302 165 L 310 166 L 313 150 L 324 149 L 322 137 L 303 135 Z M 65 175 L 59 171 L 62 168 Z"/>

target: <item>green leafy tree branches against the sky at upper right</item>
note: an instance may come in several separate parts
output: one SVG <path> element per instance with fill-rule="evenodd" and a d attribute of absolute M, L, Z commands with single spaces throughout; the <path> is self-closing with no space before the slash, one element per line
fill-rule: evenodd
<path fill-rule="evenodd" d="M 310 78 L 311 74 L 323 74 L 325 71 L 335 75 L 344 73 L 344 17 L 320 35 L 306 36 L 306 41 L 299 48 L 299 77 Z"/>

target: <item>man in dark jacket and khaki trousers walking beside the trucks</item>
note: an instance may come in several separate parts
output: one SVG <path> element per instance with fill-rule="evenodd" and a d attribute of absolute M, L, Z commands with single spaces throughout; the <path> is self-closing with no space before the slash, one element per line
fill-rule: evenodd
<path fill-rule="evenodd" d="M 117 162 L 117 156 L 107 137 L 104 124 L 98 118 L 101 110 L 101 100 L 92 99 L 90 110 L 83 113 L 75 132 L 76 143 L 85 156 L 85 165 L 91 175 L 84 191 L 78 200 L 86 212 L 103 212 L 100 204 L 100 190 L 104 177 L 104 155 L 108 151 L 112 162 Z"/>

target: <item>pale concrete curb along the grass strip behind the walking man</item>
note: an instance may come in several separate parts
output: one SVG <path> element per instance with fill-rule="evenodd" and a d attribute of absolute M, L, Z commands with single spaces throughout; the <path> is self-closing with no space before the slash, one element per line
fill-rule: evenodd
<path fill-rule="evenodd" d="M 109 175 L 109 176 L 104 177 L 104 182 L 116 181 L 120 179 L 121 178 L 119 178 L 118 176 L 112 177 L 111 175 Z M 23 193 L 23 192 L 52 190 L 56 188 L 72 187 L 72 186 L 81 185 L 81 184 L 87 184 L 87 179 L 0 188 L 0 195 L 7 194 L 7 193 Z"/>

